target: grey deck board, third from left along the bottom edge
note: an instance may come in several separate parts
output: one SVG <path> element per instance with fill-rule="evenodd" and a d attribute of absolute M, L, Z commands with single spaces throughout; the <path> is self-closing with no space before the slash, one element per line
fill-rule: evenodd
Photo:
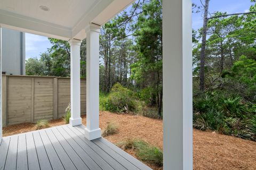
<path fill-rule="evenodd" d="M 19 135 L 17 169 L 28 169 L 27 144 L 25 134 Z"/>

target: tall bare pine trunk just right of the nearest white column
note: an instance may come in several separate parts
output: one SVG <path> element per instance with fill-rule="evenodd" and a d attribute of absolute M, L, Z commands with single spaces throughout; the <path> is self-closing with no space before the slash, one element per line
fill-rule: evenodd
<path fill-rule="evenodd" d="M 209 8 L 209 1 L 205 0 L 204 5 L 204 23 L 203 23 L 203 32 L 202 32 L 202 48 L 200 54 L 200 74 L 199 74 L 199 89 L 204 92 L 204 67 L 205 67 L 205 47 L 206 47 L 206 33 L 207 33 L 207 15 L 208 15 L 208 8 Z"/>

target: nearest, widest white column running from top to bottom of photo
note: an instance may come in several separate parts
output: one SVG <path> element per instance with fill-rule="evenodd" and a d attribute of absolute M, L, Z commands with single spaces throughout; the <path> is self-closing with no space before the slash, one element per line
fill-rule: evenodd
<path fill-rule="evenodd" d="M 193 169 L 191 0 L 163 0 L 164 169 Z"/>

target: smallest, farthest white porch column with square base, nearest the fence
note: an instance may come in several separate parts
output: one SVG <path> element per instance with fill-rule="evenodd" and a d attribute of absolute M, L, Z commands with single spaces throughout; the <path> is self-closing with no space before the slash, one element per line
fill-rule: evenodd
<path fill-rule="evenodd" d="M 72 126 L 82 124 L 80 102 L 80 46 L 81 41 L 70 39 L 70 92 L 71 92 L 71 117 L 69 124 Z"/>

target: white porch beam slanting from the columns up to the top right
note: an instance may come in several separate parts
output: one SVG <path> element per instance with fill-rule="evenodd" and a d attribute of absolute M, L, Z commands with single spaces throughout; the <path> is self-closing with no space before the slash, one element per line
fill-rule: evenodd
<path fill-rule="evenodd" d="M 83 16 L 81 20 L 72 30 L 72 37 L 75 39 L 86 38 L 85 28 L 93 23 L 102 26 L 127 6 L 132 4 L 134 0 L 104 0 L 96 4 L 91 11 Z"/>

